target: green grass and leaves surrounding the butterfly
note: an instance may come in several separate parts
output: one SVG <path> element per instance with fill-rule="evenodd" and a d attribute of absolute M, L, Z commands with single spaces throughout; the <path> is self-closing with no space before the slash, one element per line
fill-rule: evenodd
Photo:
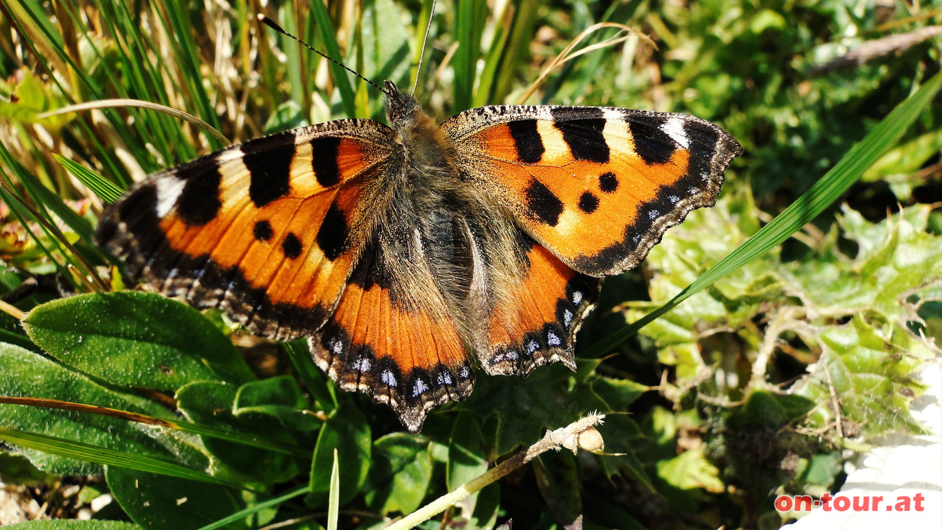
<path fill-rule="evenodd" d="M 541 455 L 422 528 L 777 528 L 794 514 L 774 510 L 776 494 L 835 491 L 854 451 L 920 432 L 913 374 L 942 337 L 938 3 L 440 2 L 416 91 L 439 118 L 521 99 L 688 112 L 745 154 L 716 207 L 609 278 L 577 373 L 481 376 L 418 437 L 388 407 L 336 391 L 302 343 L 252 340 L 217 312 L 148 293 L 105 294 L 122 284 L 90 243 L 102 207 L 224 141 L 126 103 L 45 112 L 133 98 L 231 141 L 382 119 L 381 94 L 258 12 L 409 87 L 430 1 L 0 0 L 0 293 L 28 311 L 0 314 L 0 396 L 158 423 L 7 399 L 0 480 L 15 517 L 316 529 L 339 508 L 340 526 L 376 527 L 599 410 L 619 455 Z M 595 28 L 576 50 L 597 48 L 527 95 L 600 22 L 634 31 Z M 828 173 L 836 164 L 843 173 Z M 839 176 L 842 188 L 812 189 Z M 788 240 L 704 276 L 747 240 L 774 244 L 771 230 L 756 236 L 772 219 L 790 223 Z M 707 289 L 625 329 L 705 277 Z"/>

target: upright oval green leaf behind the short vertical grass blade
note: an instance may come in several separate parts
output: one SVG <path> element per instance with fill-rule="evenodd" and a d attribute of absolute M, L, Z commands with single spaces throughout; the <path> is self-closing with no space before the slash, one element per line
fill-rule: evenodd
<path fill-rule="evenodd" d="M 340 476 L 340 504 L 349 503 L 365 483 L 372 445 L 369 424 L 363 413 L 354 406 L 337 409 L 317 437 L 307 503 L 324 505 L 327 502 L 334 449 L 340 458 L 340 469 L 344 470 Z"/>

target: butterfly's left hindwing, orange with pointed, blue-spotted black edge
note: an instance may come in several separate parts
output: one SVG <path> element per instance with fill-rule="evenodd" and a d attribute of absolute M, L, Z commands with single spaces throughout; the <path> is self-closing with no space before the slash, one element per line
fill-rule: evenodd
<path fill-rule="evenodd" d="M 310 340 L 317 365 L 340 388 L 392 406 L 414 434 L 431 408 L 474 387 L 465 337 L 422 247 L 405 224 L 379 228 L 333 316 Z"/>

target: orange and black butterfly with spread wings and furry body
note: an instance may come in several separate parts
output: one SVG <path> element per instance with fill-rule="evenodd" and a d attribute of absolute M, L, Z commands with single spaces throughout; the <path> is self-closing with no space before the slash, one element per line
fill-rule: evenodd
<path fill-rule="evenodd" d="M 308 338 L 340 388 L 412 433 L 471 393 L 475 366 L 575 369 L 601 277 L 713 206 L 742 152 L 684 114 L 494 106 L 438 125 L 384 92 L 388 125 L 300 127 L 150 176 L 96 242 L 163 294 Z"/>

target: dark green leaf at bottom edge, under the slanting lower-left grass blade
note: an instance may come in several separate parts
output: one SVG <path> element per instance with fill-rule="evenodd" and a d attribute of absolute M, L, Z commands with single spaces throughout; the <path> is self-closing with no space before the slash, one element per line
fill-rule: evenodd
<path fill-rule="evenodd" d="M 107 467 L 108 488 L 124 512 L 144 528 L 195 530 L 243 507 L 230 489 L 181 478 Z M 227 528 L 254 528 L 243 521 Z"/>

